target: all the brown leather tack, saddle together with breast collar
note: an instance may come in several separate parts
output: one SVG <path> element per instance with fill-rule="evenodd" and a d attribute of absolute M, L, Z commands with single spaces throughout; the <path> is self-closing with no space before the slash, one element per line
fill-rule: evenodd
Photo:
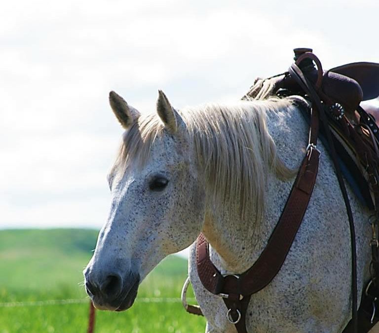
<path fill-rule="evenodd" d="M 300 105 L 299 110 L 310 124 L 306 156 L 282 215 L 260 257 L 238 275 L 225 276 L 218 271 L 209 257 L 208 242 L 200 235 L 196 243 L 197 271 L 205 289 L 223 297 L 228 321 L 235 325 L 237 332 L 246 333 L 246 311 L 251 295 L 265 288 L 280 270 L 303 220 L 317 177 L 320 151 L 316 144 L 319 138 L 335 165 L 351 232 L 352 320 L 343 333 L 366 333 L 379 321 L 375 304 L 379 303 L 379 242 L 375 231 L 379 224 L 379 128 L 375 118 L 364 111 L 360 103 L 379 96 L 379 64 L 353 63 L 324 72 L 311 49 L 298 48 L 294 52 L 295 64 L 288 72 L 256 80 L 243 97 L 288 96 Z M 372 222 L 373 239 L 370 242 L 375 275 L 366 288 L 359 310 L 354 221 L 342 180 L 342 174 L 348 180 L 344 170 L 349 167 L 353 176 L 360 177 L 357 183 L 363 187 L 359 189 L 366 191 L 366 202 L 378 217 L 377 224 Z M 351 179 L 356 180 L 356 177 Z M 373 291 L 369 290 L 370 286 L 374 286 Z M 186 289 L 185 286 L 184 291 Z M 199 308 L 185 305 L 188 312 L 201 314 Z"/>

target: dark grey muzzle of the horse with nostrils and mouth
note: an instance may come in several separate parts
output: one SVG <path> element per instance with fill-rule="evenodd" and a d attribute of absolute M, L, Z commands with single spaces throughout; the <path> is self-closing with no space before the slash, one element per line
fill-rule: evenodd
<path fill-rule="evenodd" d="M 139 274 L 130 272 L 124 278 L 114 272 L 105 278 L 93 275 L 88 270 L 84 272 L 85 290 L 97 309 L 124 311 L 133 305 L 140 283 Z"/>

